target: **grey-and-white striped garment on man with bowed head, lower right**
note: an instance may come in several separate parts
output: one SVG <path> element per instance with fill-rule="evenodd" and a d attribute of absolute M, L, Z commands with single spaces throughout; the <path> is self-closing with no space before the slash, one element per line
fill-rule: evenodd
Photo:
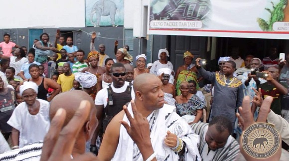
<path fill-rule="evenodd" d="M 200 144 L 198 144 L 198 149 L 202 161 L 234 161 L 239 155 L 239 144 L 232 136 L 229 136 L 227 143 L 223 148 L 215 151 L 208 151 L 209 147 L 205 141 L 205 136 L 208 131 L 209 124 L 195 123 L 190 125 L 190 127 L 197 135 L 200 136 Z"/>

